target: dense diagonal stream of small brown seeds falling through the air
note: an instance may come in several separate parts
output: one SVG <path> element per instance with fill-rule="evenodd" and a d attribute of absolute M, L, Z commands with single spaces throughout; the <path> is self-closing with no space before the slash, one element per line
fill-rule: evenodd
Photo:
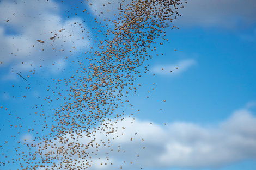
<path fill-rule="evenodd" d="M 115 109 L 124 104 L 124 98 L 130 92 L 136 93 L 134 81 L 140 77 L 141 68 L 144 67 L 144 73 L 149 71 L 147 68 L 149 65 L 146 63 L 153 57 L 150 52 L 156 50 L 154 45 L 156 41 L 154 40 L 163 34 L 163 41 L 168 41 L 165 39 L 165 32 L 162 29 L 169 27 L 168 24 L 179 16 L 175 10 L 182 5 L 182 2 L 180 0 L 136 0 L 131 1 L 130 4 L 126 4 L 124 1 L 118 2 L 118 4 L 119 14 L 114 14 L 117 15 L 117 19 L 104 19 L 105 22 L 108 22 L 106 24 L 107 31 L 94 28 L 101 35 L 105 35 L 105 39 L 95 40 L 97 49 L 91 47 L 90 51 L 85 52 L 85 58 L 78 61 L 80 67 L 69 79 L 53 79 L 56 85 L 65 83 L 67 89 L 64 91 L 68 91 L 68 96 L 62 96 L 62 92 L 52 89 L 53 95 L 58 96 L 56 100 L 63 98 L 65 102 L 52 108 L 54 116 L 52 113 L 43 112 L 41 114 L 46 119 L 49 117 L 47 115 L 51 115 L 55 122 L 50 125 L 45 121 L 43 128 L 51 129 L 48 136 L 35 137 L 32 143 L 24 141 L 23 144 L 27 145 L 29 149 L 38 149 L 33 154 L 28 152 L 26 156 L 25 153 L 17 154 L 17 156 L 21 156 L 16 160 L 17 162 L 19 160 L 27 161 L 26 165 L 20 163 L 22 169 L 37 169 L 39 167 L 87 169 L 91 166 L 92 157 L 97 155 L 90 151 L 90 148 L 96 148 L 97 152 L 101 143 L 104 147 L 110 147 L 114 138 L 110 139 L 108 135 L 117 132 L 117 127 L 114 124 L 124 119 L 121 118 L 124 112 L 117 114 Z M 89 5 L 93 7 L 94 4 L 89 3 Z M 86 12 L 86 10 L 82 12 Z M 95 22 L 98 23 L 97 18 L 95 18 Z M 74 24 L 79 23 L 75 22 Z M 59 33 L 62 31 L 63 29 L 59 30 Z M 86 32 L 84 33 L 86 34 Z M 70 34 L 70 36 L 72 35 Z M 95 35 L 95 37 L 97 36 Z M 56 38 L 57 34 L 54 34 L 50 40 L 54 42 Z M 84 38 L 82 37 L 82 39 Z M 45 43 L 46 40 L 37 41 Z M 44 49 L 42 50 L 44 51 Z M 17 74 L 23 78 L 21 74 Z M 141 86 L 141 84 L 138 85 Z M 50 91 L 49 89 L 47 91 Z M 26 98 L 26 96 L 24 97 Z M 45 100 L 48 103 L 53 102 L 50 96 Z M 129 100 L 125 100 L 125 102 L 129 102 Z M 125 129 L 125 127 L 122 128 Z M 28 131 L 33 132 L 34 130 L 29 129 Z M 100 144 L 96 143 L 96 133 L 106 134 L 105 141 L 101 140 Z M 81 138 L 86 138 L 88 143 L 80 142 Z M 36 143 L 36 141 L 40 142 Z M 130 141 L 133 141 L 132 137 Z M 144 142 L 143 138 L 142 142 Z M 113 149 L 109 149 L 109 152 L 112 151 Z M 120 149 L 118 149 L 119 151 Z M 110 164 L 112 165 L 111 162 Z M 1 166 L 4 165 L 5 162 L 1 162 Z"/>

